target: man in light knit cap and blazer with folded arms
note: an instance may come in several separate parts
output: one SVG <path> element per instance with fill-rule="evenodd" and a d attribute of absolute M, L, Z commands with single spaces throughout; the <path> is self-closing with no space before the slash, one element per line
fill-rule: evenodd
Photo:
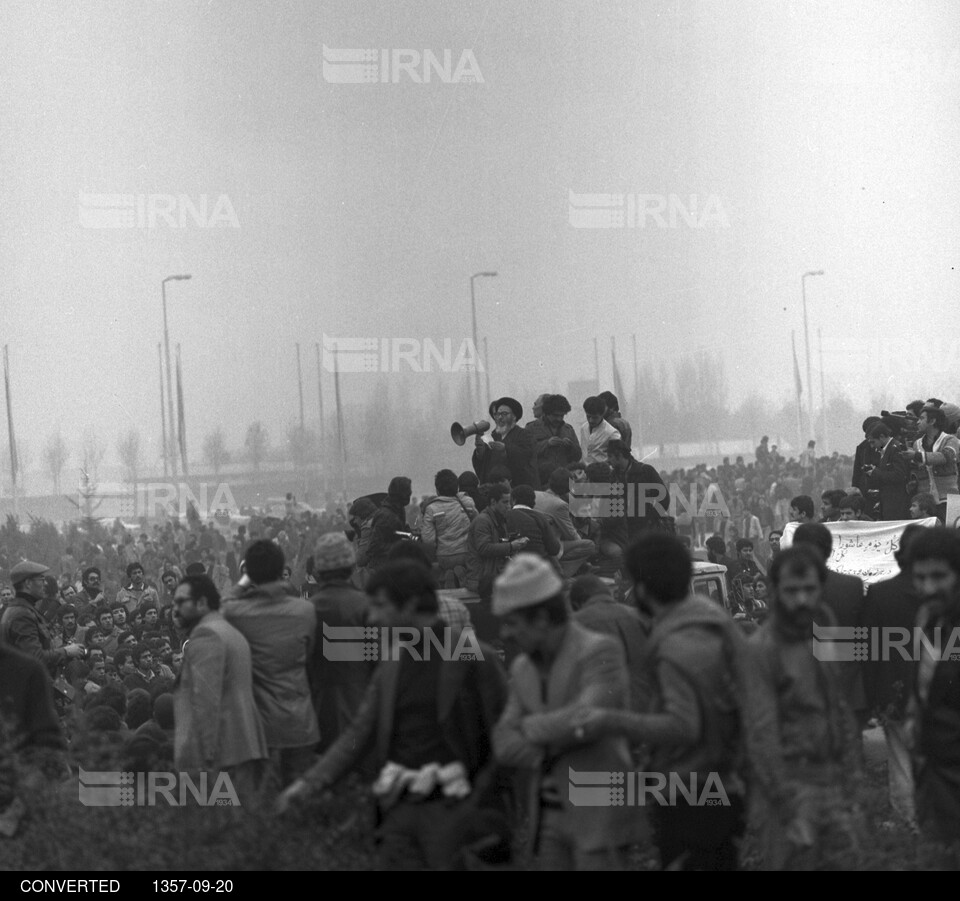
<path fill-rule="evenodd" d="M 625 774 L 629 748 L 618 736 L 587 738 L 573 722 L 582 709 L 628 709 L 622 645 L 571 619 L 560 576 L 532 554 L 518 554 L 497 579 L 493 612 L 522 652 L 493 747 L 501 764 L 530 772 L 531 850 L 544 870 L 622 869 L 626 849 L 643 834 L 641 811 L 578 806 L 576 780 Z"/>

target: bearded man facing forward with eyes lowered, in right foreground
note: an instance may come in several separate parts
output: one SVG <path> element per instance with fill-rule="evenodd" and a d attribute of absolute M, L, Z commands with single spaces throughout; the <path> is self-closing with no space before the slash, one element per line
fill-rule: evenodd
<path fill-rule="evenodd" d="M 821 526 L 821 528 L 823 528 Z M 770 566 L 770 616 L 747 642 L 750 759 L 755 764 L 763 862 L 772 870 L 843 866 L 860 844 L 856 726 L 838 664 L 813 653 L 827 568 L 797 545 Z"/>

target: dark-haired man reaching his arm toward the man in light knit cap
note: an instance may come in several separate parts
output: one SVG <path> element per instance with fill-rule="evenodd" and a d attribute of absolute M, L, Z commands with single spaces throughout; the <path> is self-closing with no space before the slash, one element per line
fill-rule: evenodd
<path fill-rule="evenodd" d="M 644 713 L 583 709 L 569 727 L 588 741 L 623 735 L 646 745 L 644 770 L 692 787 L 693 800 L 675 792 L 653 808 L 664 869 L 736 870 L 746 825 L 740 750 L 750 721 L 741 712 L 743 636 L 722 607 L 690 593 L 693 564 L 676 536 L 648 532 L 627 548 L 624 562 L 637 605 L 652 621 L 646 653 L 653 700 Z M 707 790 L 721 803 L 698 803 Z"/>

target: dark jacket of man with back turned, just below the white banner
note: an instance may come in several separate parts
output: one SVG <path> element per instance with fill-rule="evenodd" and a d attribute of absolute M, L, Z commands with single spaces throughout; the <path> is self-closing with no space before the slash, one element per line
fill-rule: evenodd
<path fill-rule="evenodd" d="M 920 598 L 913 590 L 913 580 L 902 570 L 892 579 L 874 582 L 867 588 L 863 624 L 880 629 L 903 630 L 902 635 L 907 639 L 904 646 L 907 660 L 904 660 L 895 648 L 891 648 L 887 654 L 876 655 L 885 656 L 886 660 L 870 660 L 864 664 L 863 687 L 868 708 L 871 712 L 895 721 L 903 719 L 907 702 L 913 694 L 916 675 L 913 661 L 913 627 L 919 609 Z M 899 633 L 887 634 L 892 641 L 899 640 Z M 886 646 L 881 640 L 880 649 L 883 650 Z"/>

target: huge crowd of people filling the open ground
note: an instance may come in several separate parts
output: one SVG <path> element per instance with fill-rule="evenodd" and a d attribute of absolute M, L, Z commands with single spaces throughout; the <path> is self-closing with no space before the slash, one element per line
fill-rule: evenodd
<path fill-rule="evenodd" d="M 0 694 L 23 772 L 55 781 L 65 760 L 113 754 L 225 772 L 242 805 L 284 813 L 358 769 L 391 869 L 518 853 L 620 868 L 644 844 L 665 868 L 735 869 L 751 817 L 763 865 L 815 868 L 862 846 L 879 717 L 893 813 L 960 840 L 960 662 L 812 650 L 815 622 L 960 626 L 960 538 L 943 527 L 960 408 L 882 411 L 851 456 L 811 441 L 785 460 L 765 437 L 749 463 L 672 472 L 634 456 L 615 396 L 582 408 L 575 430 L 569 401 L 541 395 L 521 426 L 518 401 L 494 401 L 472 470 L 440 470 L 418 500 L 397 476 L 235 530 L 8 523 Z M 643 502 L 604 506 L 584 484 Z M 691 489 L 715 503 L 671 497 Z M 896 579 L 865 593 L 828 569 L 826 523 L 927 515 L 941 525 L 904 530 Z M 729 611 L 691 593 L 696 557 L 726 567 Z M 333 650 L 344 628 L 359 656 Z M 597 773 L 600 792 L 576 782 Z"/>

